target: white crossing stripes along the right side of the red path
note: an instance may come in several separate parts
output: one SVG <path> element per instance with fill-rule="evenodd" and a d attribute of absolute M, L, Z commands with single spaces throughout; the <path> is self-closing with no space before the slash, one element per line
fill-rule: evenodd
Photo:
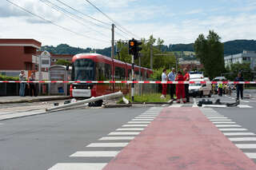
<path fill-rule="evenodd" d="M 210 108 L 201 108 L 202 113 L 220 130 L 231 142 L 242 150 L 250 159 L 256 161 L 256 134 L 242 128 L 228 117 Z"/>

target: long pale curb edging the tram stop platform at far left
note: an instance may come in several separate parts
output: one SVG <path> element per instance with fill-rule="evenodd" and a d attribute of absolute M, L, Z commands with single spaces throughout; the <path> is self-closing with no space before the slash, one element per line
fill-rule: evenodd
<path fill-rule="evenodd" d="M 37 98 L 37 99 L 23 99 L 18 101 L 0 101 L 0 104 L 12 104 L 12 103 L 33 103 L 39 101 L 59 101 L 70 99 L 70 97 L 47 97 L 47 98 Z"/>

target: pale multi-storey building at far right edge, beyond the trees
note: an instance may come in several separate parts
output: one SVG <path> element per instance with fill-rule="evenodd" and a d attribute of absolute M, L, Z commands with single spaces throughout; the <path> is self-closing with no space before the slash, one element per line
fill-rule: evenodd
<path fill-rule="evenodd" d="M 250 63 L 250 69 L 256 69 L 256 52 L 243 50 L 242 53 L 224 57 L 225 66 L 235 63 Z"/>

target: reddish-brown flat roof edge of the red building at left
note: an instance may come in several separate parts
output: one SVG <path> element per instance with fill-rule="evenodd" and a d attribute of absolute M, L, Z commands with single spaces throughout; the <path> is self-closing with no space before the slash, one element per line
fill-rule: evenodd
<path fill-rule="evenodd" d="M 34 39 L 0 38 L 0 46 L 32 46 L 40 49 L 42 43 Z"/>

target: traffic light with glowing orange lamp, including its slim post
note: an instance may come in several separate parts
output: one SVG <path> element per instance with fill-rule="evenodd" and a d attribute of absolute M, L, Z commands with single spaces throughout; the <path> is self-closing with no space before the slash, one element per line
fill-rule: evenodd
<path fill-rule="evenodd" d="M 138 58 L 138 52 L 142 50 L 142 47 L 139 45 L 142 45 L 142 42 L 135 40 L 134 38 L 132 40 L 129 40 L 129 54 L 132 55 L 132 69 L 131 69 L 131 75 L 132 75 L 132 81 L 135 81 L 134 79 L 134 59 Z M 134 83 L 131 84 L 131 101 L 134 102 Z"/>

